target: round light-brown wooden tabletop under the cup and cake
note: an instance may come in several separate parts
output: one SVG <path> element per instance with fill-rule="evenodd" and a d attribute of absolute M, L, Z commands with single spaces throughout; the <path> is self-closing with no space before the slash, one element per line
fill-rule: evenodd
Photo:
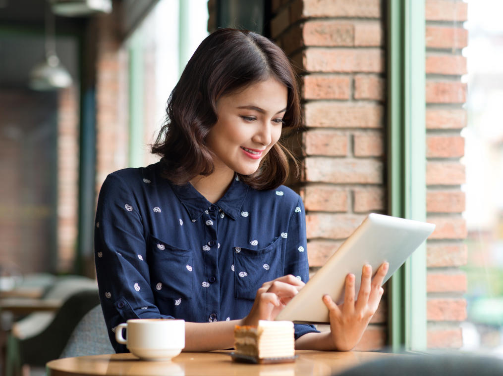
<path fill-rule="evenodd" d="M 143 361 L 130 353 L 51 360 L 47 376 L 75 375 L 207 375 L 328 376 L 360 363 L 396 355 L 383 352 L 296 351 L 293 363 L 246 364 L 232 361 L 229 351 L 182 352 L 173 361 Z"/>

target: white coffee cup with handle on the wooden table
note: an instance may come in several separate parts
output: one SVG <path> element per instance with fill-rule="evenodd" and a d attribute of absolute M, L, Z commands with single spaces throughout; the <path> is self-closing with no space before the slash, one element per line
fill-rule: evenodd
<path fill-rule="evenodd" d="M 126 338 L 122 336 L 126 329 Z M 185 347 L 185 321 L 174 319 L 132 319 L 117 325 L 117 342 L 144 360 L 169 360 Z"/>

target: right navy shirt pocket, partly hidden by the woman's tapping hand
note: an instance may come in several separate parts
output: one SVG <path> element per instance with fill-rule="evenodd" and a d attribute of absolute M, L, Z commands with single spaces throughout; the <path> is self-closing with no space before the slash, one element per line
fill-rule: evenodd
<path fill-rule="evenodd" d="M 283 276 L 281 237 L 262 249 L 234 247 L 235 297 L 254 300 L 264 282 Z"/>

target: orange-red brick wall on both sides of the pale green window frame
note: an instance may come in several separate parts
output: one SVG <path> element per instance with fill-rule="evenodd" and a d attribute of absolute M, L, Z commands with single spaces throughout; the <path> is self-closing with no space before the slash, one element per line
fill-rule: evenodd
<path fill-rule="evenodd" d="M 369 212 L 384 212 L 383 4 L 379 0 L 272 2 L 272 37 L 292 58 L 304 100 L 303 175 L 313 272 Z M 426 1 L 428 346 L 460 347 L 466 317 L 464 139 L 466 4 Z M 384 298 L 385 299 L 385 298 Z M 386 303 L 358 349 L 385 344 Z"/>

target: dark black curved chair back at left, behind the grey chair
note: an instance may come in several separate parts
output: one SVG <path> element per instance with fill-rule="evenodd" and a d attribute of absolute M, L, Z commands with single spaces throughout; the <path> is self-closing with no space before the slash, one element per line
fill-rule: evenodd
<path fill-rule="evenodd" d="M 6 376 L 21 374 L 23 364 L 45 366 L 49 360 L 58 358 L 78 322 L 99 303 L 97 287 L 75 292 L 40 332 L 23 338 L 11 334 L 7 343 Z"/>

